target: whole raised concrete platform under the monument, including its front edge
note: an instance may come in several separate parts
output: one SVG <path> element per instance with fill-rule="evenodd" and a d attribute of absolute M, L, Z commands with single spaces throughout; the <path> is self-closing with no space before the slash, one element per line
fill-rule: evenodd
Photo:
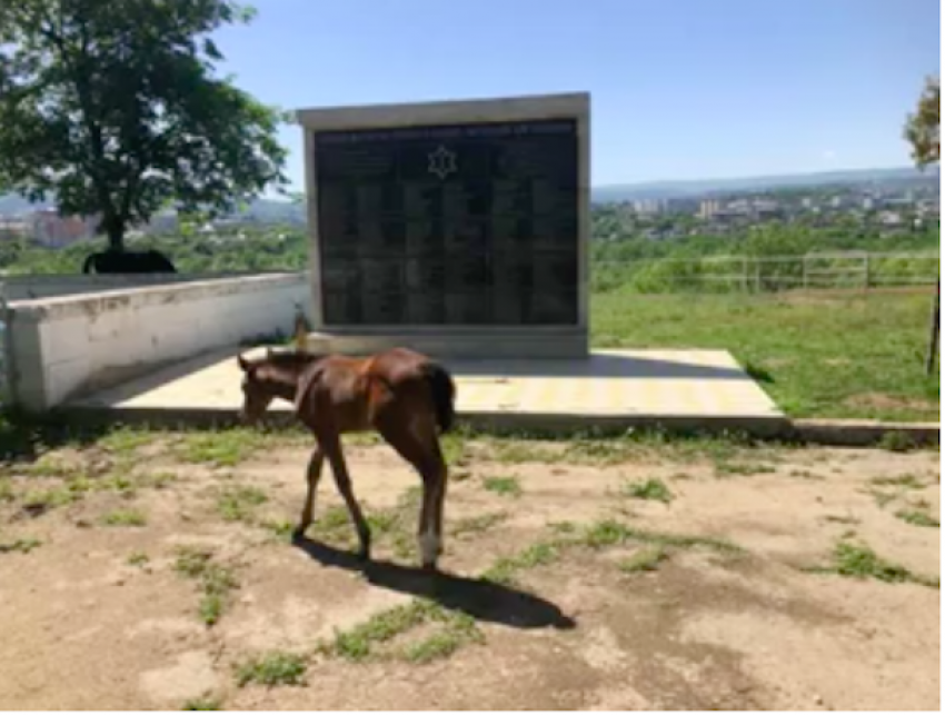
<path fill-rule="evenodd" d="M 117 421 L 230 421 L 241 401 L 236 351 L 173 365 L 66 409 Z M 251 355 L 251 352 L 248 352 Z M 664 426 L 777 433 L 789 421 L 725 350 L 595 350 L 586 359 L 444 359 L 457 410 L 481 426 L 569 430 Z M 275 403 L 270 411 L 287 414 Z"/>

